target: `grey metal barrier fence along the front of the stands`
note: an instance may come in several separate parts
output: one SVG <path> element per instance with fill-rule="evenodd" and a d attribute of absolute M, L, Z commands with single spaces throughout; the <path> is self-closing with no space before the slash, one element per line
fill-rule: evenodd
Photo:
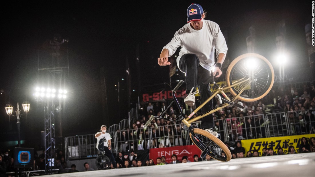
<path fill-rule="evenodd" d="M 214 129 L 220 133 L 221 141 L 312 134 L 315 133 L 314 115 L 315 109 L 216 119 Z M 183 123 L 152 124 L 146 130 L 118 128 L 118 125 L 112 125 L 108 130 L 112 136 L 112 152 L 116 153 L 192 144 L 188 128 Z M 66 160 L 96 157 L 99 153 L 96 141 L 94 134 L 66 137 Z"/>

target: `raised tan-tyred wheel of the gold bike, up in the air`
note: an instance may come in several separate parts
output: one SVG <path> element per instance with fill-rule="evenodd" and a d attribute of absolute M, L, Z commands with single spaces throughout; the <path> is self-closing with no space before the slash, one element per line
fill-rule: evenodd
<path fill-rule="evenodd" d="M 265 97 L 274 82 L 274 71 L 271 63 L 257 53 L 246 53 L 235 58 L 226 71 L 226 85 L 231 86 L 235 80 L 250 78 L 249 89 L 244 90 L 238 100 L 254 102 Z M 242 88 L 242 84 L 229 88 L 235 97 Z"/>

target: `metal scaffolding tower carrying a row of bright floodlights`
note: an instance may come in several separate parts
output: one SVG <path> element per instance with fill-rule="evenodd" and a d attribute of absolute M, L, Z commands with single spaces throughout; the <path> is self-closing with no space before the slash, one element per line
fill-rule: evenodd
<path fill-rule="evenodd" d="M 54 40 L 46 41 L 43 49 L 38 50 L 38 86 L 42 88 L 42 95 L 36 97 L 38 102 L 44 103 L 45 119 L 45 169 L 46 174 L 55 170 L 55 117 L 59 121 L 60 148 L 62 148 L 62 113 L 65 97 L 60 96 L 60 90 L 65 90 L 69 84 L 69 57 L 67 40 L 55 36 Z M 43 93 L 43 90 L 47 92 Z M 49 89 L 49 91 L 48 91 Z M 63 95 L 64 96 L 64 95 Z M 56 132 L 57 133 L 57 132 Z"/>

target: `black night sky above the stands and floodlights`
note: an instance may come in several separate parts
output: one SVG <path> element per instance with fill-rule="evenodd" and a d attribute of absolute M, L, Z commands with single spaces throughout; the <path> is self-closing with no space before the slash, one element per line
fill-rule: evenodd
<path fill-rule="evenodd" d="M 21 118 L 22 133 L 39 137 L 44 129 L 43 105 L 33 99 L 38 84 L 37 51 L 59 33 L 68 39 L 69 97 L 62 119 L 63 136 L 95 133 L 101 124 L 111 125 L 128 118 L 126 58 L 130 65 L 132 102 L 137 101 L 136 46 L 139 45 L 142 92 L 146 86 L 169 82 L 167 67 L 157 65 L 164 45 L 186 24 L 186 9 L 199 3 L 209 12 L 208 20 L 228 34 L 229 58 L 247 53 L 246 35 L 256 27 L 257 53 L 266 58 L 275 51 L 275 26 L 285 20 L 292 65 L 306 64 L 304 26 L 310 23 L 312 1 L 10 1 L 1 6 L 0 122 L 1 140 L 16 140 L 15 119 L 9 125 L 5 104 L 26 99 L 31 111 Z M 100 68 L 105 69 L 110 121 L 104 122 Z M 183 79 L 183 78 L 182 78 Z M 120 82 L 121 103 L 117 90 Z M 157 88 L 158 90 L 158 88 Z M 141 96 L 140 96 L 141 98 Z M 118 116 L 120 113 L 120 117 Z M 13 124 L 12 124 L 13 123 Z M 58 136 L 56 127 L 56 136 Z M 8 133 L 13 132 L 13 133 Z M 22 136 L 22 140 L 39 141 Z"/>

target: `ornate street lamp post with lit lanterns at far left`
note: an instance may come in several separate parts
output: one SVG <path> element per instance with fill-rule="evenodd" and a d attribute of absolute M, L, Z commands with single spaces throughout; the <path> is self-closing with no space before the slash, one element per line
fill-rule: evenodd
<path fill-rule="evenodd" d="M 30 103 L 25 101 L 23 102 L 22 104 L 22 107 L 23 107 L 23 110 L 25 111 L 25 113 L 27 113 L 29 110 L 30 110 Z M 5 111 L 7 112 L 7 114 L 9 115 L 9 122 L 10 122 L 10 116 L 11 114 L 13 113 L 13 106 L 9 103 L 9 104 L 6 104 L 5 106 Z M 18 127 L 18 145 L 19 147 L 21 147 L 21 136 L 20 136 L 20 116 L 21 116 L 21 111 L 20 111 L 20 108 L 19 108 L 19 102 L 16 103 L 16 124 L 17 124 L 17 127 Z"/>

